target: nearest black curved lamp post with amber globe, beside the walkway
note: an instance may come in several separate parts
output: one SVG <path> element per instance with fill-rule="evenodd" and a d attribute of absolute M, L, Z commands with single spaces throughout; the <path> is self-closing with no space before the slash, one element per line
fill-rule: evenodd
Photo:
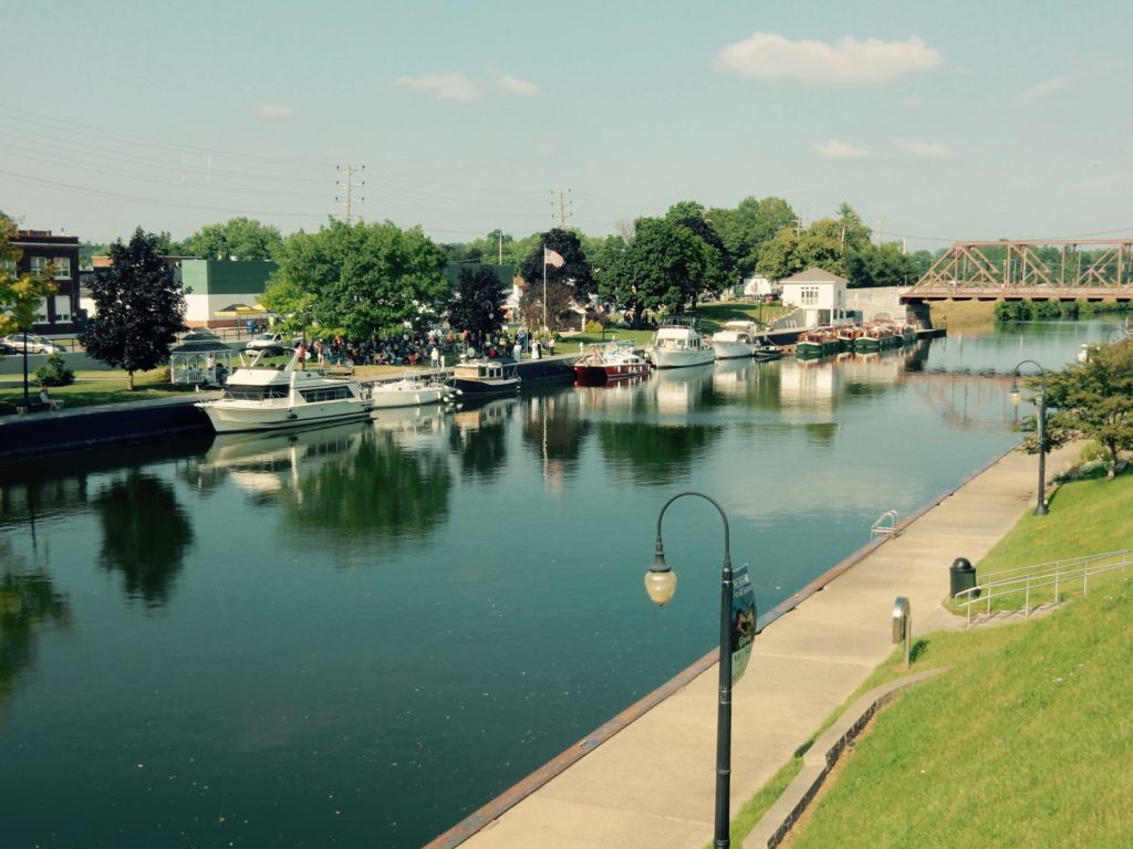
<path fill-rule="evenodd" d="M 729 806 L 732 782 L 732 555 L 729 543 L 727 516 L 723 508 L 702 492 L 679 492 L 665 501 L 657 514 L 657 549 L 653 566 L 645 575 L 645 589 L 657 607 L 664 607 L 676 591 L 676 575 L 665 563 L 665 547 L 661 540 L 661 520 L 668 505 L 684 496 L 698 496 L 712 504 L 724 521 L 724 567 L 721 574 L 719 595 L 719 697 L 716 710 L 716 838 L 715 849 L 727 849 Z"/>

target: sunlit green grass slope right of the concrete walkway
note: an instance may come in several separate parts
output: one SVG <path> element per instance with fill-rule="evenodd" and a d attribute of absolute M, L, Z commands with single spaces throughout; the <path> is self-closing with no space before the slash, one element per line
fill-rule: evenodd
<path fill-rule="evenodd" d="M 1050 507 L 979 568 L 1133 547 L 1133 475 L 1065 484 Z M 919 640 L 912 671 L 949 671 L 881 711 L 792 849 L 1133 846 L 1131 609 L 1133 574 L 1115 574 L 1048 617 Z M 894 654 L 859 693 L 900 674 Z"/>

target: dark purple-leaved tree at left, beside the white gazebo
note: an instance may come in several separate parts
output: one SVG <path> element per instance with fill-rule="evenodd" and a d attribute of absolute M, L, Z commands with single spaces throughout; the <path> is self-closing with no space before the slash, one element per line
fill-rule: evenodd
<path fill-rule="evenodd" d="M 110 246 L 112 265 L 91 283 L 94 316 L 78 334 L 91 357 L 126 370 L 131 391 L 134 372 L 167 360 L 185 324 L 185 295 L 159 245 L 160 237 L 138 228 L 128 245 Z"/>

